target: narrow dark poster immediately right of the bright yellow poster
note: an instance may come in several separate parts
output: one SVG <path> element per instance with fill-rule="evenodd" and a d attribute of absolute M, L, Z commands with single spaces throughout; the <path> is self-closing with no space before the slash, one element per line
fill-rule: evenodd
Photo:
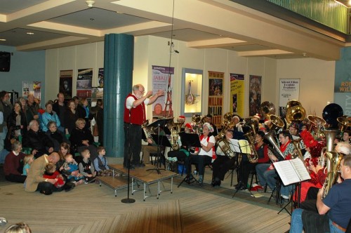
<path fill-rule="evenodd" d="M 262 76 L 250 75 L 249 79 L 249 116 L 260 113 Z"/>

